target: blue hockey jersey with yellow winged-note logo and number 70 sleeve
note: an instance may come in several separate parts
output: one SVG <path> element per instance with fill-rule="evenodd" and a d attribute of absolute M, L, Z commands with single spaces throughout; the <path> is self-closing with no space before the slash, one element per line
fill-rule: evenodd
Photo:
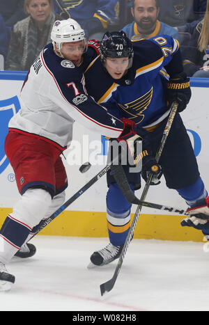
<path fill-rule="evenodd" d="M 133 41 L 133 46 L 132 68 L 119 80 L 105 70 L 100 56 L 95 58 L 85 72 L 86 90 L 114 116 L 151 129 L 169 115 L 167 79 L 160 70 L 164 67 L 170 75 L 183 71 L 179 44 L 169 35 L 158 35 Z"/>

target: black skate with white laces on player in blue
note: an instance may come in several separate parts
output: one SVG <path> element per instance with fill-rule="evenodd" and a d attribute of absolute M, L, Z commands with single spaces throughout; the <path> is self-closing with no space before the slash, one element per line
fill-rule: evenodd
<path fill-rule="evenodd" d="M 102 266 L 109 264 L 110 262 L 116 260 L 120 257 L 121 251 L 123 249 L 123 245 L 121 246 L 114 246 L 113 244 L 109 243 L 106 247 L 100 249 L 100 251 L 94 252 L 91 257 L 91 263 L 93 265 Z M 91 267 L 91 265 L 89 266 Z"/>

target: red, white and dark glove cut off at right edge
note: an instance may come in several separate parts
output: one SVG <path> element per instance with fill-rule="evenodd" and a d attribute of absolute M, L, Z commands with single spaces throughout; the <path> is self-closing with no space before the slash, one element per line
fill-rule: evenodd
<path fill-rule="evenodd" d="M 198 230 L 209 230 L 209 196 L 196 202 L 195 205 L 187 209 L 190 214 L 187 218 L 183 219 L 181 225 L 183 227 L 193 227 Z"/>

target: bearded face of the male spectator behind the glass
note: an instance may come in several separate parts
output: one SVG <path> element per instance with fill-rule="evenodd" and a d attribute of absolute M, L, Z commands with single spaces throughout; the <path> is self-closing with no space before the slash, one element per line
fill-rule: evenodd
<path fill-rule="evenodd" d="M 134 8 L 131 10 L 139 32 L 152 31 L 155 28 L 159 15 L 155 0 L 134 0 Z"/>

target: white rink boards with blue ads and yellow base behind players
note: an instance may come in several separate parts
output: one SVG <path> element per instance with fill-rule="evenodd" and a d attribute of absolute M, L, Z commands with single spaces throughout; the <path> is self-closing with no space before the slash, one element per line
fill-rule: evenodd
<path fill-rule="evenodd" d="M 8 120 L 20 108 L 19 93 L 25 77 L 24 72 L 0 72 L 0 225 L 6 215 L 12 212 L 12 207 L 20 198 L 17 192 L 13 168 L 11 168 L 3 151 L 3 142 L 6 136 Z M 209 189 L 208 160 L 208 87 L 207 79 L 192 79 L 192 99 L 187 109 L 181 113 L 187 132 L 191 138 L 194 152 L 199 163 L 201 177 Z M 3 121 L 3 122 L 2 122 Z M 107 161 L 108 143 L 98 134 L 75 122 L 74 141 L 68 150 L 65 150 L 63 164 L 68 174 L 69 187 L 66 190 L 66 200 L 81 189 L 86 182 L 105 166 Z M 90 161 L 91 168 L 82 174 L 79 166 Z M 144 181 L 142 182 L 142 188 Z M 75 200 L 65 212 L 42 230 L 42 235 L 63 235 L 81 237 L 107 237 L 106 221 L 106 193 L 105 176 Z M 141 191 L 136 195 L 140 197 Z M 146 201 L 179 207 L 185 209 L 185 203 L 178 193 L 167 189 L 164 179 L 157 187 L 150 187 Z M 136 207 L 132 207 L 132 216 Z M 171 215 L 160 210 L 144 207 L 139 216 L 135 238 L 192 240 L 202 241 L 203 236 L 198 230 L 182 228 L 180 221 L 183 216 Z"/>

